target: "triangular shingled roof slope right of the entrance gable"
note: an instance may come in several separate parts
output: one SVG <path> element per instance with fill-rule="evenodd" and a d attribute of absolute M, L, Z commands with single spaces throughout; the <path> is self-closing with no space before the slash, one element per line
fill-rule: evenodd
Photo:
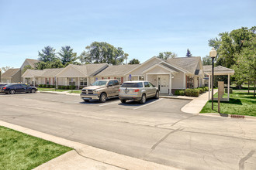
<path fill-rule="evenodd" d="M 200 56 L 177 57 L 167 59 L 167 62 L 182 67 L 182 69 L 187 70 L 190 73 L 195 73 L 196 67 L 200 59 Z"/>

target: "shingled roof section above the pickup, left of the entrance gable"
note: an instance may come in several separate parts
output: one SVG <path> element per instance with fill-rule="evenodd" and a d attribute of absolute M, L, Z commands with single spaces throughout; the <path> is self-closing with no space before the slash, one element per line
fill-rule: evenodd
<path fill-rule="evenodd" d="M 137 66 L 140 66 L 140 64 L 108 66 L 105 70 L 102 70 L 102 72 L 98 73 L 96 76 L 123 76 Z"/>

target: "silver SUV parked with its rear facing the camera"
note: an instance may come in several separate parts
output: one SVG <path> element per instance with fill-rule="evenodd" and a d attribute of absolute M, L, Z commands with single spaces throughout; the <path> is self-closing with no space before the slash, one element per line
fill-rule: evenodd
<path fill-rule="evenodd" d="M 145 104 L 150 97 L 159 98 L 159 90 L 148 81 L 126 81 L 119 88 L 119 99 L 122 103 L 126 100 L 137 100 Z"/>

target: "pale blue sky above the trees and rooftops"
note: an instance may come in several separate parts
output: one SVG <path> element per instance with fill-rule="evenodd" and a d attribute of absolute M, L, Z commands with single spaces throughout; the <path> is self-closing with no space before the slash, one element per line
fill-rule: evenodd
<path fill-rule="evenodd" d="M 141 63 L 165 51 L 203 57 L 220 32 L 256 26 L 255 8 L 255 0 L 0 0 L 0 68 L 19 68 L 44 46 L 80 55 L 95 41 Z"/>

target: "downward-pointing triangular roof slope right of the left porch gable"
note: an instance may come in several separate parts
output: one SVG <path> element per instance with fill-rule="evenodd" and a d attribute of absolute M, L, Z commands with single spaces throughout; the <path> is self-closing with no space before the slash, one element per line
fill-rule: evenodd
<path fill-rule="evenodd" d="M 94 76 L 97 71 L 101 70 L 101 68 L 104 68 L 106 66 L 109 66 L 107 63 L 95 63 L 95 64 L 84 64 L 84 65 L 74 65 L 75 68 L 81 71 L 81 73 L 84 73 L 85 76 Z"/>

